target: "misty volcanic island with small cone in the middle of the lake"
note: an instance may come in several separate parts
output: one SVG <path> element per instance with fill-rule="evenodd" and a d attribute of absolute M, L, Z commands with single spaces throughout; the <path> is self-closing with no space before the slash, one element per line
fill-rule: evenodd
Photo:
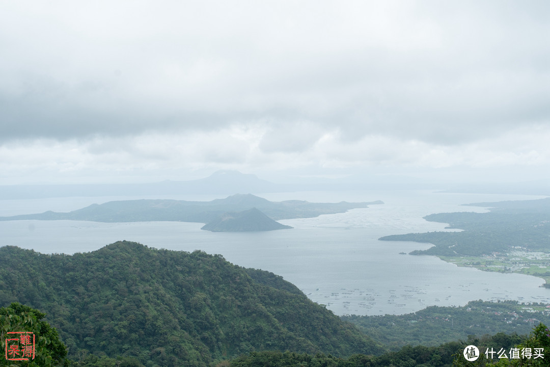
<path fill-rule="evenodd" d="M 343 213 L 350 209 L 366 208 L 374 204 L 384 203 L 379 200 L 336 203 L 315 203 L 304 200 L 273 202 L 252 194 L 236 194 L 212 201 L 166 199 L 109 201 L 104 204 L 92 204 L 68 213 L 47 211 L 0 217 L 0 221 L 73 220 L 107 223 L 177 221 L 207 223 L 206 228 L 203 228 L 206 230 L 213 228 L 216 232 L 271 231 L 289 228 L 277 223 L 276 220 Z"/>

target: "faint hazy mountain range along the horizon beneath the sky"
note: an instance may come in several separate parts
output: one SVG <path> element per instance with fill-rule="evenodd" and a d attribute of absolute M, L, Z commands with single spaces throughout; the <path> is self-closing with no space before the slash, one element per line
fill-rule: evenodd
<path fill-rule="evenodd" d="M 153 196 L 201 195 L 227 196 L 234 193 L 288 193 L 298 191 L 350 190 L 419 190 L 437 189 L 453 193 L 550 195 L 550 182 L 538 180 L 516 184 L 456 184 L 444 180 L 419 179 L 409 176 L 373 174 L 341 178 L 298 177 L 285 183 L 273 183 L 255 174 L 239 171 L 216 171 L 211 176 L 194 180 L 164 180 L 153 183 L 120 184 L 26 184 L 0 185 L 0 200 L 69 198 L 75 196 Z M 249 208 L 250 209 L 250 208 Z"/>

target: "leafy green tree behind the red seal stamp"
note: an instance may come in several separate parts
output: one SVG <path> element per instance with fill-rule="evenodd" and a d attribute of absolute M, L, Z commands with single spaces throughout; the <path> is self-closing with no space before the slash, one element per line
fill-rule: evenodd
<path fill-rule="evenodd" d="M 8 307 L 0 308 L 0 366 L 63 366 L 67 367 L 70 361 L 67 356 L 67 347 L 59 340 L 57 330 L 46 321 L 41 321 L 46 314 L 20 303 L 12 303 Z M 9 361 L 5 358 L 5 339 L 8 332 L 31 332 L 35 338 L 34 359 L 28 361 Z"/>

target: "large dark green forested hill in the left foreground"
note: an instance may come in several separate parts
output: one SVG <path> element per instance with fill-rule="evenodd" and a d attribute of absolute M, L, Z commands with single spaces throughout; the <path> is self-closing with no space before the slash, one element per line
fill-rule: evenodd
<path fill-rule="evenodd" d="M 117 242 L 86 254 L 0 248 L 0 306 L 46 313 L 69 347 L 149 366 L 208 365 L 254 350 L 381 349 L 292 284 L 221 255 Z"/>

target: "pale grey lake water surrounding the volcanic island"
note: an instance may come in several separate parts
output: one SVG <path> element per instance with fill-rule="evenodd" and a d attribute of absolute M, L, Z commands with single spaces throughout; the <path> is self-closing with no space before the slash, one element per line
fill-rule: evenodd
<path fill-rule="evenodd" d="M 431 191 L 362 191 L 281 193 L 268 200 L 317 202 L 374 201 L 367 209 L 280 221 L 294 229 L 272 232 L 212 233 L 201 223 L 83 221 L 0 222 L 0 245 L 17 245 L 41 253 L 87 252 L 117 240 L 171 250 L 204 250 L 222 254 L 233 264 L 281 275 L 314 302 L 335 314 L 404 314 L 430 305 L 464 305 L 470 300 L 511 299 L 550 302 L 550 289 L 536 277 L 482 272 L 457 267 L 434 256 L 403 255 L 429 244 L 378 241 L 389 234 L 443 231 L 445 224 L 422 219 L 431 213 L 486 211 L 460 204 L 537 199 L 541 196 L 449 194 Z M 158 198 L 158 197 L 157 197 Z M 211 200 L 208 196 L 170 196 Z M 61 198 L 0 200 L 0 216 L 70 211 L 94 202 L 133 198 Z"/>

